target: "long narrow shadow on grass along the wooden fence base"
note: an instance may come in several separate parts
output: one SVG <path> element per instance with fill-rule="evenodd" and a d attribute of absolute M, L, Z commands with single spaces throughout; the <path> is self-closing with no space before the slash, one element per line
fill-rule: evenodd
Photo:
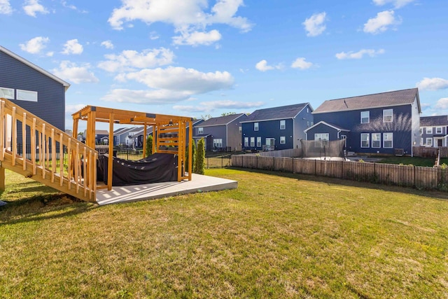
<path fill-rule="evenodd" d="M 412 187 L 402 187 L 395 185 L 385 185 L 381 183 L 370 183 L 364 181 L 351 181 L 349 179 L 335 179 L 327 176 L 314 176 L 311 174 L 294 174 L 291 172 L 278 172 L 274 170 L 265 169 L 253 169 L 253 168 L 241 168 L 241 167 L 228 167 L 229 169 L 236 169 L 245 172 L 254 172 L 262 174 L 272 174 L 276 176 L 287 177 L 290 179 L 304 180 L 304 181 L 318 181 L 322 183 L 328 183 L 328 185 L 342 185 L 351 186 L 359 188 L 369 188 L 374 190 L 386 190 L 399 193 L 407 193 L 412 195 L 421 195 L 425 197 L 430 197 L 435 200 L 448 200 L 448 193 L 439 190 L 419 190 Z"/>

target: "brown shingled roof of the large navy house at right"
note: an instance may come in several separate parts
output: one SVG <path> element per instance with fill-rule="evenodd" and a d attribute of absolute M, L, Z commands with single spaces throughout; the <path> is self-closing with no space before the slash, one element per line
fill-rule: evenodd
<path fill-rule="evenodd" d="M 407 90 L 396 90 L 390 92 L 381 92 L 374 95 L 360 95 L 358 97 L 345 97 L 342 99 L 329 99 L 314 110 L 316 113 L 351 111 L 359 109 L 379 108 L 386 106 L 400 106 L 414 103 L 417 97 L 417 103 L 420 109 L 419 90 L 410 88 Z"/>

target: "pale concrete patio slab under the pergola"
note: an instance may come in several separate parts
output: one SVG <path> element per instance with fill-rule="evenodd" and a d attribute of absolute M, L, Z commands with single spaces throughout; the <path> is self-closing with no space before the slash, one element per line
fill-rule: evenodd
<path fill-rule="evenodd" d="M 237 181 L 192 174 L 191 181 L 169 181 L 134 186 L 115 186 L 110 191 L 100 189 L 97 190 L 97 203 L 104 205 L 137 202 L 139 200 L 154 200 L 156 198 L 181 194 L 235 189 L 237 187 Z"/>

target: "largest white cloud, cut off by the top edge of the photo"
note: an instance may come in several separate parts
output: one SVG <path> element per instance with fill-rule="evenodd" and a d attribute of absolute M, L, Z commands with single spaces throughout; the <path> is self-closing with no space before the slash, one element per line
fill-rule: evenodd
<path fill-rule="evenodd" d="M 237 16 L 243 0 L 217 0 L 216 4 L 208 12 L 207 0 L 122 0 L 122 6 L 115 8 L 108 20 L 113 29 L 123 29 L 126 22 L 140 20 L 151 25 L 153 22 L 165 22 L 174 26 L 175 32 L 180 32 L 181 36 L 174 39 L 181 44 L 188 41 L 207 41 L 211 44 L 218 38 L 218 32 L 211 30 L 207 32 L 207 27 L 216 24 L 224 24 L 236 27 L 241 32 L 248 32 L 253 25 L 246 18 Z M 206 34 L 198 36 L 197 33 Z M 190 37 L 190 38 L 188 38 Z M 221 34 L 219 36 L 221 39 Z"/>

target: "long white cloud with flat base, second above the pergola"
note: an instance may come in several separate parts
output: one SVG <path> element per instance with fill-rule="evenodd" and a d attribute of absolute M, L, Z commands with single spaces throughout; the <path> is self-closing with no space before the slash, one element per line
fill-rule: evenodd
<path fill-rule="evenodd" d="M 227 71 L 202 73 L 195 69 L 167 67 L 166 69 L 142 69 L 116 77 L 119 81 L 133 80 L 150 88 L 187 91 L 193 94 L 231 88 L 234 78 Z"/>

